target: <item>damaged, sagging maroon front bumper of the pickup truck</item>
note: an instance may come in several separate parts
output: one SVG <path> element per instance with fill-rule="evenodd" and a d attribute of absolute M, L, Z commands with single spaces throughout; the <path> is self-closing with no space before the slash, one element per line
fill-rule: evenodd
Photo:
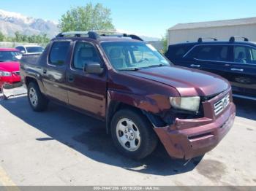
<path fill-rule="evenodd" d="M 154 128 L 171 157 L 191 159 L 204 155 L 219 144 L 219 141 L 233 126 L 236 117 L 236 106 L 233 102 L 225 108 L 218 117 L 213 116 L 213 104 L 221 96 L 204 103 L 206 117 L 199 119 L 176 119 L 173 125 L 164 128 Z M 230 96 L 232 94 L 230 93 Z"/>

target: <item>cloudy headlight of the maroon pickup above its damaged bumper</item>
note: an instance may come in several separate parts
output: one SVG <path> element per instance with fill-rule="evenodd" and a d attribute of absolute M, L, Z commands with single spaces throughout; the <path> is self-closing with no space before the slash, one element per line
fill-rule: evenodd
<path fill-rule="evenodd" d="M 170 105 L 176 109 L 198 112 L 200 106 L 200 97 L 170 97 Z"/>

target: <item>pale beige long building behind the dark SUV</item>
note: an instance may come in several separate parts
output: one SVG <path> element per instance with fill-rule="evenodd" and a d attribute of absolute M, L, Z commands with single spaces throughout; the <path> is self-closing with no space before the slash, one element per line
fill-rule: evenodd
<path fill-rule="evenodd" d="M 167 33 L 168 44 L 195 42 L 199 37 L 229 40 L 230 36 L 243 36 L 256 42 L 256 17 L 177 24 Z"/>

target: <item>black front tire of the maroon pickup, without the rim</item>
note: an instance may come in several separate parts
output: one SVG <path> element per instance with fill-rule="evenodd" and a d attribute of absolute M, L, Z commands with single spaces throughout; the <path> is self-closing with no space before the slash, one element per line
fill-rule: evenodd
<path fill-rule="evenodd" d="M 135 151 L 130 151 L 124 148 L 124 146 L 118 141 L 118 122 L 122 119 L 132 120 L 135 123 L 140 133 L 140 145 Z M 125 156 L 140 160 L 150 155 L 157 147 L 158 138 L 153 130 L 151 123 L 148 119 L 137 110 L 122 109 L 113 116 L 111 121 L 111 136 L 116 148 Z M 123 135 L 124 136 L 124 135 Z"/>

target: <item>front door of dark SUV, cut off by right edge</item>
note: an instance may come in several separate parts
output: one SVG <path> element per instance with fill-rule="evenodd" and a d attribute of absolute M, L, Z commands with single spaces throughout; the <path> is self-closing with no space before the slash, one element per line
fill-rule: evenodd
<path fill-rule="evenodd" d="M 235 93 L 256 98 L 256 49 L 246 45 L 233 46 L 230 82 Z"/>

